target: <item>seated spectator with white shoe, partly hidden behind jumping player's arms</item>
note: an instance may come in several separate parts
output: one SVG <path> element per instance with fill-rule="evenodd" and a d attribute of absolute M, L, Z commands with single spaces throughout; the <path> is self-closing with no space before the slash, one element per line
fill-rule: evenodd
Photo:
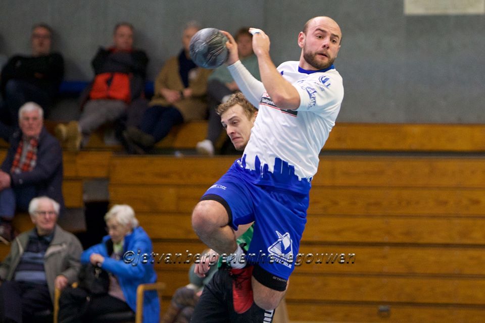
<path fill-rule="evenodd" d="M 253 53 L 253 35 L 249 32 L 249 28 L 240 28 L 234 38 L 237 42 L 237 51 L 241 63 L 254 77 L 260 80 L 258 59 Z M 239 91 L 239 87 L 232 79 L 226 65 L 218 67 L 209 76 L 207 83 L 209 125 L 206 139 L 197 143 L 197 152 L 207 155 L 214 154 L 215 144 L 222 131 L 221 117 L 216 112 L 217 106 L 227 102 L 231 94 L 236 91 Z"/>

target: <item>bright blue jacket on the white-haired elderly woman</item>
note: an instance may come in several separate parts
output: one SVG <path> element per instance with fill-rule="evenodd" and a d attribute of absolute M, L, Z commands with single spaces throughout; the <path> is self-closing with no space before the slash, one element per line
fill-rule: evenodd
<path fill-rule="evenodd" d="M 93 253 L 99 253 L 105 257 L 101 266 L 107 272 L 113 274 L 118 279 L 126 303 L 133 311 L 136 311 L 136 288 L 140 284 L 155 283 L 157 274 L 154 270 L 153 263 L 125 263 L 123 259 L 115 260 L 108 254 L 107 242 L 110 236 L 105 236 L 103 242 L 96 244 L 81 254 L 81 263 L 88 263 L 89 256 Z M 125 236 L 123 253 L 133 251 L 135 256 L 138 251 L 151 254 L 153 251 L 152 241 L 147 233 L 141 228 L 133 229 L 133 232 Z M 156 291 L 146 292 L 143 302 L 143 323 L 158 323 L 160 321 L 160 301 Z"/>

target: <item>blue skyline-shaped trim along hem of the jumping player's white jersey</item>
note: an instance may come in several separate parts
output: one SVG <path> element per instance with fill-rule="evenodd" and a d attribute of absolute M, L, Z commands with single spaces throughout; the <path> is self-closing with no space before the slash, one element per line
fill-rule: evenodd
<path fill-rule="evenodd" d="M 255 157 L 254 161 L 255 170 L 247 169 L 246 157 L 247 155 L 245 154 L 242 158 L 237 159 L 231 166 L 231 169 L 242 173 L 244 177 L 256 185 L 273 186 L 299 194 L 308 194 L 312 187 L 311 180 L 306 178 L 299 179 L 295 175 L 295 166 L 289 165 L 287 161 L 276 157 L 274 159 L 273 173 L 271 173 L 268 169 L 268 164 L 262 166 L 258 156 Z"/>

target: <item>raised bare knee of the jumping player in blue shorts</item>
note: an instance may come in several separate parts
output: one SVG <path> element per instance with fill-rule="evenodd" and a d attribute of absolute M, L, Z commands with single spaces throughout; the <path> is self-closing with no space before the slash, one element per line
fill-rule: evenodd
<path fill-rule="evenodd" d="M 227 212 L 219 202 L 200 201 L 192 211 L 192 227 L 199 236 L 211 234 L 227 223 Z"/>

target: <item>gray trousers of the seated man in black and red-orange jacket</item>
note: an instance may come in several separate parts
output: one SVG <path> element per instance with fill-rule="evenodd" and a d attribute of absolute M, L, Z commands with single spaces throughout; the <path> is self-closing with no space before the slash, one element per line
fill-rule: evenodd
<path fill-rule="evenodd" d="M 121 117 L 128 107 L 122 100 L 89 100 L 84 105 L 79 118 L 79 128 L 84 136 L 98 129 L 108 122 L 113 122 Z"/>

